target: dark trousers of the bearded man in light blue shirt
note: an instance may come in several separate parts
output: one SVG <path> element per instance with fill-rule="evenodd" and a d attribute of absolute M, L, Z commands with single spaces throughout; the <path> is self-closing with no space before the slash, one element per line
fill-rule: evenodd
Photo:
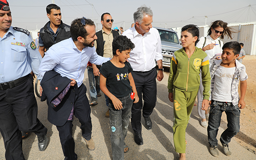
<path fill-rule="evenodd" d="M 86 140 L 91 140 L 91 108 L 86 97 L 86 87 L 82 84 L 78 88 L 78 98 L 74 103 L 74 116 L 81 123 L 82 135 Z M 72 121 L 67 121 L 64 126 L 57 126 L 61 140 L 61 147 L 65 156 L 64 160 L 77 160 L 77 154 L 74 153 L 74 139 L 72 137 Z"/>

